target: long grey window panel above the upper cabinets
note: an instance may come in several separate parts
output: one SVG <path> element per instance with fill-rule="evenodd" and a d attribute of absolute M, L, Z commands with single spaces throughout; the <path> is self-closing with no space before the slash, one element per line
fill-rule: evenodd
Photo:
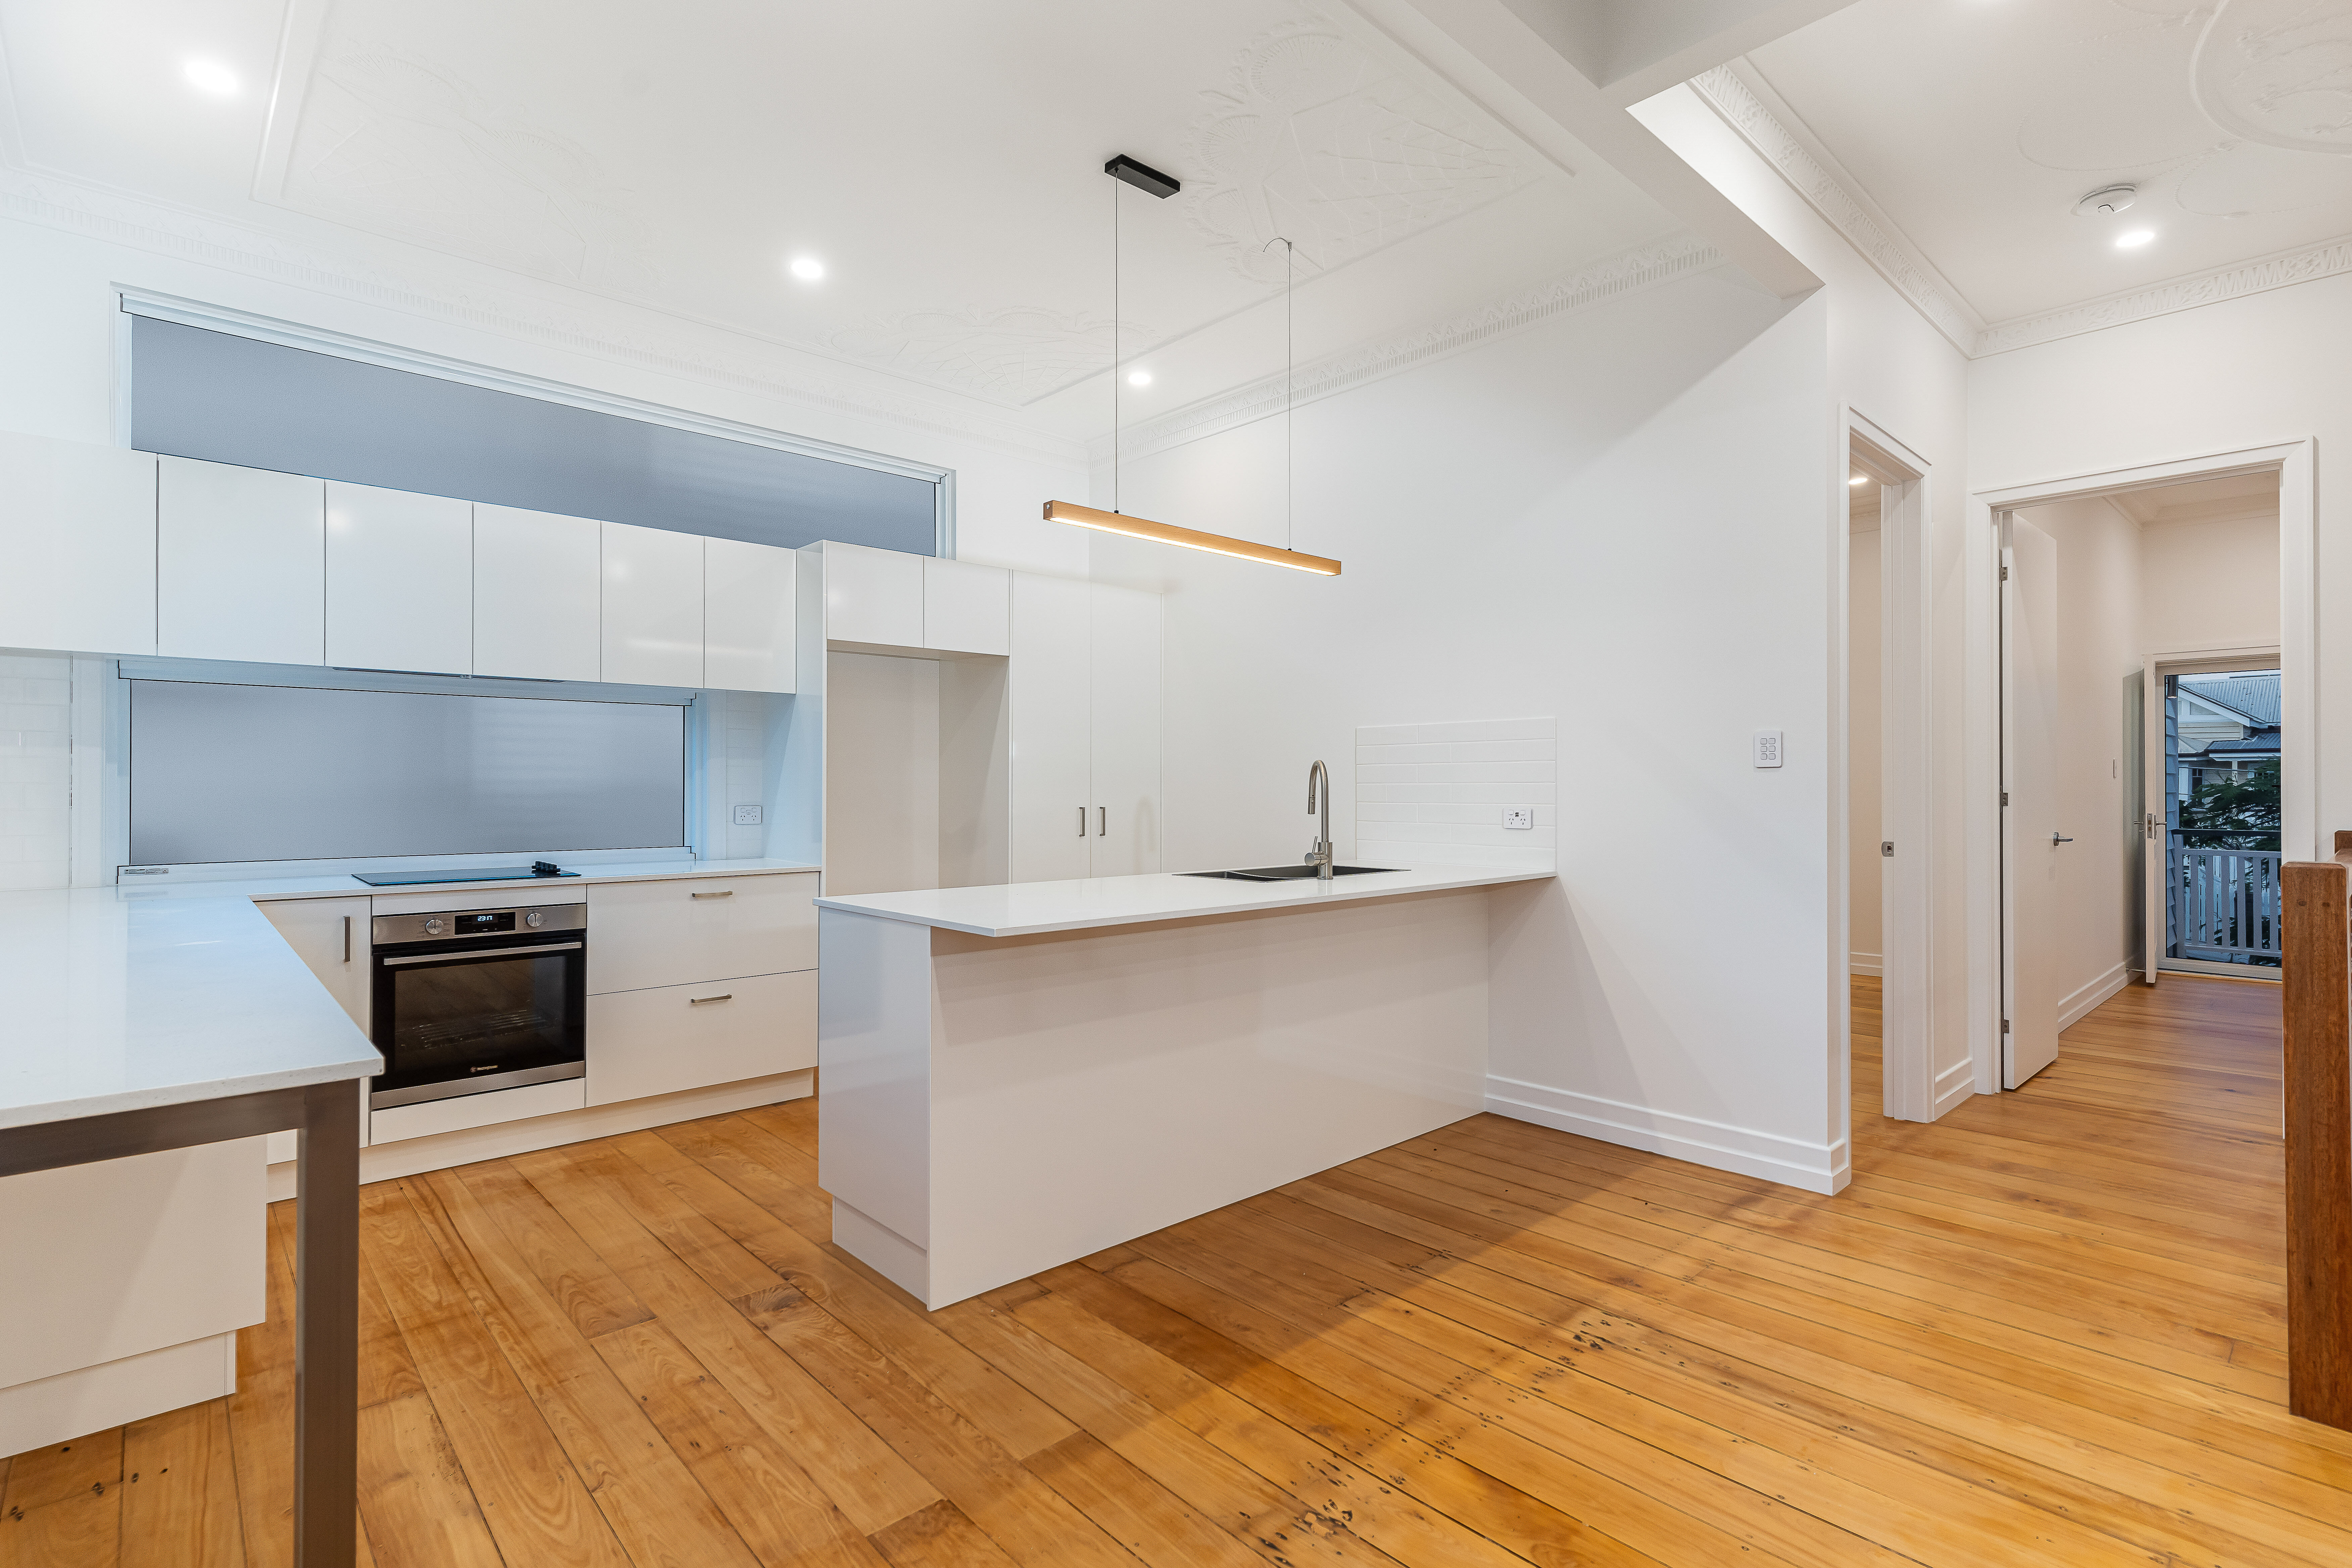
<path fill-rule="evenodd" d="M 800 548 L 938 552 L 938 484 L 132 317 L 132 447 Z"/>

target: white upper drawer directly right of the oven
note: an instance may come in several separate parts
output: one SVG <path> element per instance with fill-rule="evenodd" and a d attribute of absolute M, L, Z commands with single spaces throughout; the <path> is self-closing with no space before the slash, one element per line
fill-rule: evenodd
<path fill-rule="evenodd" d="M 588 994 L 816 969 L 816 872 L 597 882 Z"/>

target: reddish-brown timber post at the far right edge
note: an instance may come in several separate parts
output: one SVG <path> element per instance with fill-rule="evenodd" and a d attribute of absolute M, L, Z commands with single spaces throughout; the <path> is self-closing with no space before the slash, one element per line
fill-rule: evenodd
<path fill-rule="evenodd" d="M 2352 1429 L 2352 832 L 2279 877 L 2286 1408 Z"/>

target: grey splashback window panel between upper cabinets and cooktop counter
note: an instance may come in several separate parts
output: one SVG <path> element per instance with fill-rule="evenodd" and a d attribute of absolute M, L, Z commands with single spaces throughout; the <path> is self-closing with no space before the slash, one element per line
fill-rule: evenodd
<path fill-rule="evenodd" d="M 687 842 L 675 703 L 134 679 L 132 863 Z"/>

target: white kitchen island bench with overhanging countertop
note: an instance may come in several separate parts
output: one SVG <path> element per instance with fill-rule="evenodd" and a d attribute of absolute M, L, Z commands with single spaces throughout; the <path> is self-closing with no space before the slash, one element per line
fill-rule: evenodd
<path fill-rule="evenodd" d="M 818 898 L 833 1239 L 936 1309 L 1479 1112 L 1486 889 L 1550 875 Z"/>

